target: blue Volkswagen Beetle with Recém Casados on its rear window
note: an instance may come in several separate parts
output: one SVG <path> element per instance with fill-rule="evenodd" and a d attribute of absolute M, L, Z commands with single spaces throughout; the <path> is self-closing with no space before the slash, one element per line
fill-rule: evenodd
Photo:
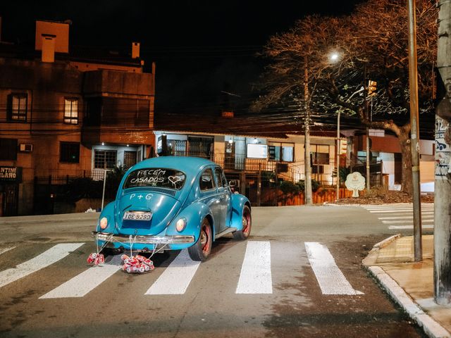
<path fill-rule="evenodd" d="M 125 173 L 116 201 L 93 232 L 99 248 L 144 252 L 188 249 L 204 261 L 215 239 L 247 239 L 249 200 L 233 194 L 222 168 L 203 158 L 150 158 Z"/>

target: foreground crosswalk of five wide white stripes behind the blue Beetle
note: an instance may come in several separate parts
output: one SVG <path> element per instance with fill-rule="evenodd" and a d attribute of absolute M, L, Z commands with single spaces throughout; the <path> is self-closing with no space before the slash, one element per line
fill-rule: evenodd
<path fill-rule="evenodd" d="M 56 244 L 44 253 L 16 266 L 0 272 L 0 287 L 15 282 L 20 278 L 30 277 L 37 270 L 47 268 L 78 249 L 84 243 Z M 240 244 L 241 245 L 241 244 Z M 249 240 L 237 246 L 243 252 L 239 275 L 230 274 L 230 282 L 235 282 L 237 287 L 235 294 L 273 294 L 274 276 L 271 273 L 271 242 Z M 336 265 L 333 256 L 327 246 L 318 242 L 306 242 L 295 244 L 299 251 L 304 250 L 306 263 L 310 264 L 311 270 L 316 276 L 318 286 L 323 294 L 356 295 L 362 294 L 355 290 L 345 275 L 342 274 Z M 244 247 L 245 246 L 245 247 Z M 2 250 L 0 248 L 0 250 Z M 220 258 L 221 259 L 221 258 Z M 293 262 L 297 266 L 299 262 Z M 161 273 L 147 273 L 142 275 L 142 279 L 149 283 L 144 296 L 185 294 L 194 275 L 202 269 L 202 263 L 192 261 L 187 250 L 180 251 L 173 261 L 166 267 L 156 266 L 156 271 L 161 269 Z M 110 263 L 94 265 L 86 268 L 75 277 L 58 285 L 54 289 L 48 290 L 39 299 L 70 299 L 87 296 L 89 292 L 106 282 L 110 277 L 121 270 L 118 260 L 111 260 Z M 293 268 L 290 271 L 295 271 Z M 238 274 L 238 272 L 236 273 Z M 158 276 L 158 277 L 157 277 Z M 279 289 L 279 288 L 278 288 Z"/>

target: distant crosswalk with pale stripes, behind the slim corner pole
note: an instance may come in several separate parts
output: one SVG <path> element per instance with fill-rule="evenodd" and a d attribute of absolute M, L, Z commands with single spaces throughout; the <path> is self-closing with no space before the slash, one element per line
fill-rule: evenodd
<path fill-rule="evenodd" d="M 370 213 L 378 216 L 383 224 L 390 230 L 409 230 L 414 228 L 413 205 L 403 204 L 380 204 L 363 206 Z M 421 204 L 421 227 L 433 229 L 434 226 L 434 204 Z"/>

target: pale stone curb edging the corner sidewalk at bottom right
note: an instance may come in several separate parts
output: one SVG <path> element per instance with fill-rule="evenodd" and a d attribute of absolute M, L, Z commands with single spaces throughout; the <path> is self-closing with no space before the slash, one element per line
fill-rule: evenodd
<path fill-rule="evenodd" d="M 369 273 L 374 278 L 376 278 L 376 280 L 378 280 L 379 284 L 381 284 L 385 292 L 387 292 L 392 297 L 392 299 L 404 309 L 404 311 L 409 315 L 410 318 L 412 318 L 412 320 L 414 320 L 420 327 L 423 328 L 428 337 L 451 337 L 450 332 L 448 332 L 442 325 L 433 320 L 431 316 L 425 313 L 418 306 L 418 304 L 416 304 L 412 300 L 412 298 L 410 298 L 410 296 L 404 291 L 404 289 L 402 289 L 402 287 L 400 287 L 400 285 L 397 284 L 397 282 L 395 282 L 392 277 L 385 273 L 385 271 L 381 267 L 366 266 L 366 268 Z"/>

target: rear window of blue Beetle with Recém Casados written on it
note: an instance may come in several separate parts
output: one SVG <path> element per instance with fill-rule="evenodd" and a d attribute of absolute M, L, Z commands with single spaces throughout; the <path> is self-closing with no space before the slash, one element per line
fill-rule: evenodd
<path fill-rule="evenodd" d="M 123 189 L 135 187 L 161 187 L 180 190 L 185 184 L 185 173 L 166 168 L 133 170 L 127 177 Z"/>

